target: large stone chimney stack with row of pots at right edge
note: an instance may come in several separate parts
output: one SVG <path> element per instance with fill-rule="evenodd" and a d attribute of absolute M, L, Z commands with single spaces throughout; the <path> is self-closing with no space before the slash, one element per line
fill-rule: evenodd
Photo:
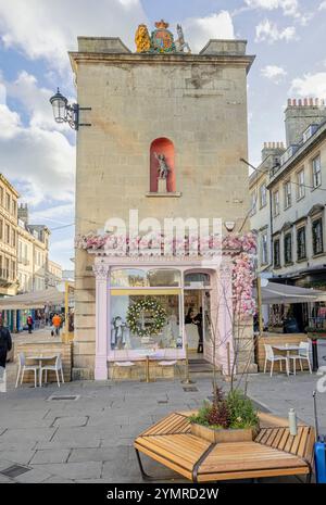
<path fill-rule="evenodd" d="M 324 121 L 326 121 L 325 100 L 289 98 L 285 111 L 287 147 L 300 143 L 303 131 L 310 125 L 319 125 Z"/>

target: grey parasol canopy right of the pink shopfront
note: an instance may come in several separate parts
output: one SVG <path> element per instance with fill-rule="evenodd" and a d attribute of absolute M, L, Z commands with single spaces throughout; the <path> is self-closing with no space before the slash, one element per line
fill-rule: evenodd
<path fill-rule="evenodd" d="M 254 293 L 256 295 L 256 293 Z M 297 286 L 280 285 L 268 280 L 262 286 L 262 304 L 326 302 L 326 292 Z"/>

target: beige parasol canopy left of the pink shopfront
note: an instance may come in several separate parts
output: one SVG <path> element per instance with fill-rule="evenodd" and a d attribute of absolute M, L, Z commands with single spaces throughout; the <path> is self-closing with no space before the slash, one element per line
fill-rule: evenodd
<path fill-rule="evenodd" d="M 57 288 L 48 288 L 42 291 L 2 298 L 0 299 L 0 311 L 15 311 L 18 308 L 43 308 L 46 305 L 60 304 L 64 304 L 64 292 L 60 292 Z"/>

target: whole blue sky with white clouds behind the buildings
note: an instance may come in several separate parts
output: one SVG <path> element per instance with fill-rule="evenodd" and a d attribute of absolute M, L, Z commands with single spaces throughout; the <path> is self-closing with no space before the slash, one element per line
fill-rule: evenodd
<path fill-rule="evenodd" d="M 67 51 L 77 36 L 118 36 L 164 18 L 181 23 L 193 53 L 210 38 L 248 40 L 249 160 L 285 140 L 288 98 L 326 99 L 326 0 L 0 0 L 0 173 L 51 230 L 50 257 L 72 268 L 75 132 L 58 125 L 49 98 L 75 97 Z"/>

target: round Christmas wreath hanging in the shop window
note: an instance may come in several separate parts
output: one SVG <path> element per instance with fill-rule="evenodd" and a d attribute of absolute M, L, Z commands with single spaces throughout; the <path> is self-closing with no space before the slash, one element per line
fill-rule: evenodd
<path fill-rule="evenodd" d="M 145 324 L 145 312 L 150 314 L 150 323 Z M 150 337 L 162 331 L 166 311 L 154 298 L 147 296 L 129 306 L 126 320 L 133 333 Z"/>

